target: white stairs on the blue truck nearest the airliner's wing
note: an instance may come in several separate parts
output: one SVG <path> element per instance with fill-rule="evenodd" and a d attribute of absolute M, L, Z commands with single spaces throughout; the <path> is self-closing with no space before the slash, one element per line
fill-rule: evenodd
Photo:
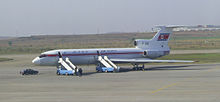
<path fill-rule="evenodd" d="M 120 67 L 116 66 L 107 56 L 98 56 L 98 61 L 107 68 L 114 68 L 115 71 L 119 71 Z"/>

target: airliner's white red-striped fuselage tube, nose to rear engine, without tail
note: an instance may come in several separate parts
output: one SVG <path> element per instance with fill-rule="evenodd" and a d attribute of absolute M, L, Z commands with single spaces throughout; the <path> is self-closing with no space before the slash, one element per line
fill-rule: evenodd
<path fill-rule="evenodd" d="M 61 49 L 44 52 L 32 62 L 37 65 L 55 66 L 58 64 L 60 52 L 63 58 L 68 57 L 75 65 L 97 64 L 98 56 L 107 56 L 109 59 L 146 58 L 144 51 L 140 48 Z M 160 56 L 165 55 L 164 52 L 167 51 L 162 52 Z"/>

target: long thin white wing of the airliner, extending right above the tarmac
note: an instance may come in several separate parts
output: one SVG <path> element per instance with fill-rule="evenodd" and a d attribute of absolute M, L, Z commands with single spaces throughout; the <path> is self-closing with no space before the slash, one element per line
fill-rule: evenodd
<path fill-rule="evenodd" d="M 153 60 L 148 58 L 139 58 L 139 59 L 110 59 L 112 62 L 115 63 L 192 63 L 195 61 L 187 61 L 187 60 Z"/>

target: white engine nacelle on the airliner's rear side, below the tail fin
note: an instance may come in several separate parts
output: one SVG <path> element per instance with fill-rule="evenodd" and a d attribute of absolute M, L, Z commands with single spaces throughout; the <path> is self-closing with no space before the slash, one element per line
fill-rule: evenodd
<path fill-rule="evenodd" d="M 149 58 L 158 58 L 161 56 L 168 55 L 170 51 L 144 51 L 144 56 Z"/>

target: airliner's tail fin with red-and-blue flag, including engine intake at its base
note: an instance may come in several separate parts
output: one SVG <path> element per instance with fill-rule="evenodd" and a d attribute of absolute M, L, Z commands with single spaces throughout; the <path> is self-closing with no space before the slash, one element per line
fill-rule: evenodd
<path fill-rule="evenodd" d="M 160 28 L 157 34 L 151 40 L 137 39 L 135 40 L 136 48 L 144 50 L 169 51 L 168 41 L 172 35 L 174 28 L 183 26 L 156 26 Z"/>

